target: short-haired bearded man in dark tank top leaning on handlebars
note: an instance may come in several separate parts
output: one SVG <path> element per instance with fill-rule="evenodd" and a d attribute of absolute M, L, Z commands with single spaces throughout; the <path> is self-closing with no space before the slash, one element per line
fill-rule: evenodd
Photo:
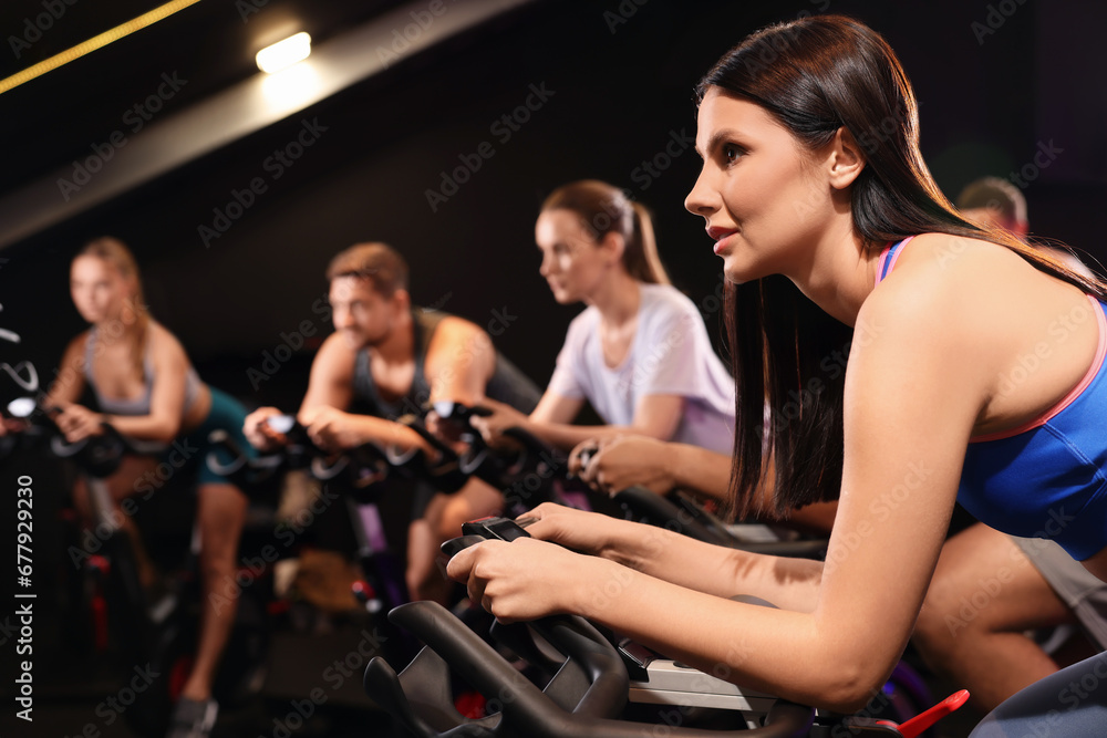
<path fill-rule="evenodd" d="M 343 450 L 366 441 L 434 453 L 401 416 L 439 399 L 476 405 L 484 397 L 525 413 L 540 393 L 501 356 L 474 323 L 413 308 L 407 264 L 384 243 L 359 243 L 342 251 L 327 270 L 334 333 L 319 349 L 297 419 L 311 440 Z M 355 406 L 365 414 L 353 413 Z M 245 432 L 262 450 L 284 443 L 266 420 L 279 414 L 262 407 L 246 419 Z M 501 505 L 498 490 L 473 479 L 446 497 L 417 485 L 408 529 L 407 586 L 414 599 L 442 596 L 435 576 L 438 544 L 457 536 L 465 520 Z"/>

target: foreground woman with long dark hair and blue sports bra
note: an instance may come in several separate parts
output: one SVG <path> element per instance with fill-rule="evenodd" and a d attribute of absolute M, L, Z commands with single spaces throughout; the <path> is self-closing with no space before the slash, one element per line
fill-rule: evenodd
<path fill-rule="evenodd" d="M 540 506 L 534 538 L 468 548 L 448 573 L 497 617 L 582 613 L 849 713 L 899 659 L 955 500 L 1107 579 L 1107 284 L 958 214 L 923 163 L 899 60 L 858 21 L 758 31 L 697 93 L 685 206 L 732 283 L 734 508 L 769 469 L 780 509 L 837 498 L 826 561 Z M 1077 663 L 973 735 L 1101 736 L 1104 675 L 1107 654 Z"/>

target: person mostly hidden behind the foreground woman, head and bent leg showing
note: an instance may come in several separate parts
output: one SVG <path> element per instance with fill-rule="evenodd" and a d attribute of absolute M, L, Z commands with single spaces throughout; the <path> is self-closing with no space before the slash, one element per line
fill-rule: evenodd
<path fill-rule="evenodd" d="M 1030 232 L 1026 198 L 1006 179 L 969 184 L 956 205 L 972 220 L 1020 238 Z M 1095 279 L 1070 251 L 1039 248 Z M 1054 655 L 1035 632 L 1058 625 L 1077 625 L 1083 633 Z M 969 689 L 973 705 L 989 711 L 1067 665 L 1058 658 L 1107 648 L 1107 583 L 1053 541 L 975 523 L 942 548 L 913 643 L 931 668 Z"/>

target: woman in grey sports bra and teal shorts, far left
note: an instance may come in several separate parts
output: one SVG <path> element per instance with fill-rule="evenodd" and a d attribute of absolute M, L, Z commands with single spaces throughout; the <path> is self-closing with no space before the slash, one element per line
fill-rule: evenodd
<path fill-rule="evenodd" d="M 211 699 L 211 680 L 238 602 L 236 555 L 247 498 L 203 460 L 208 434 L 215 429 L 234 436 L 242 449 L 252 448 L 241 433 L 246 412 L 201 382 L 177 339 L 151 318 L 138 267 L 121 241 L 105 237 L 89 243 L 73 259 L 70 291 L 77 312 L 92 326 L 70 342 L 46 399 L 61 410 L 56 423 L 65 438 L 75 443 L 99 435 L 108 423 L 137 441 L 136 446 L 148 445 L 152 454 L 164 454 L 165 458 L 123 460 L 107 479 L 116 502 L 155 493 L 164 484 L 161 466 L 166 462 L 174 474 L 198 467 L 203 615 L 196 661 L 182 688 L 169 735 L 204 738 L 218 710 Z M 92 389 L 99 410 L 77 404 L 85 386 Z M 187 450 L 184 459 L 177 450 L 167 449 L 178 438 L 177 446 Z M 84 507 L 86 491 L 79 486 L 74 492 Z M 127 516 L 116 512 L 113 519 L 122 520 L 131 539 L 138 540 Z M 143 583 L 153 584 L 152 568 L 141 563 Z"/>

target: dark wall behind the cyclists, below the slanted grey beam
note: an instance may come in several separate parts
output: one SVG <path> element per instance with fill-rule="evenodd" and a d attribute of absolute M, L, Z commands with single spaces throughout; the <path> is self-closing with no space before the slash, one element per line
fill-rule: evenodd
<path fill-rule="evenodd" d="M 1098 4 L 639 2 L 537 3 L 0 252 L 0 328 L 22 335 L 15 358 L 54 365 L 82 328 L 68 262 L 86 239 L 113 233 L 136 251 L 155 315 L 209 381 L 294 403 L 311 347 L 329 331 L 318 302 L 324 266 L 372 239 L 407 256 L 417 302 L 499 321 L 498 344 L 544 383 L 575 310 L 557 306 L 538 276 L 534 219 L 549 190 L 582 177 L 625 187 L 654 210 L 674 281 L 717 333 L 718 262 L 702 221 L 683 209 L 699 165 L 691 91 L 745 33 L 823 10 L 858 15 L 900 54 L 921 101 L 923 153 L 951 197 L 980 175 L 1021 171 L 1055 142 L 1064 153 L 1024 183 L 1032 224 L 1107 260 L 1088 217 L 1107 163 L 1105 102 L 1087 80 L 1100 79 L 1089 75 L 1105 58 L 1095 43 L 1058 42 L 1074 28 L 1068 12 L 1082 13 L 1077 32 L 1103 28 Z M 528 98 L 536 110 L 519 107 Z M 501 117 L 517 110 L 510 131 Z M 314 143 L 275 178 L 269 157 L 304 125 Z M 490 158 L 479 158 L 482 145 Z M 432 208 L 427 190 L 443 191 L 442 173 L 477 158 Z M 215 210 L 226 212 L 232 190 L 256 177 L 266 191 L 205 242 L 199 228 L 227 225 Z M 248 381 L 265 352 L 294 347 L 303 328 L 313 335 L 294 358 L 267 382 Z"/>

